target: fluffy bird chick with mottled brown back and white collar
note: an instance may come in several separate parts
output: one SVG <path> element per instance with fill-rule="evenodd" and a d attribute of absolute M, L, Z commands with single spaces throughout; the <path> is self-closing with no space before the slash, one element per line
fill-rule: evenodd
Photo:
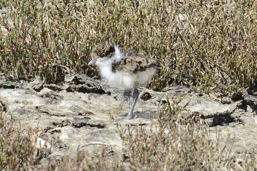
<path fill-rule="evenodd" d="M 146 84 L 157 70 L 157 64 L 134 52 L 122 52 L 119 47 L 110 43 L 100 43 L 92 50 L 92 60 L 88 65 L 98 66 L 101 78 L 115 87 L 124 88 L 120 106 L 123 105 L 126 96 L 130 102 L 130 94 L 133 93 L 133 102 L 126 117 L 118 117 L 116 120 L 131 119 L 135 104 L 139 97 L 137 88 Z"/>

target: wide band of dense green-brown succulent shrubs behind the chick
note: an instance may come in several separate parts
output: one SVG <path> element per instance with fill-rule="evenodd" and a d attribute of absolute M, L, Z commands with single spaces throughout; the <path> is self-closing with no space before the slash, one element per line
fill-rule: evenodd
<path fill-rule="evenodd" d="M 13 78 L 63 81 L 66 73 L 97 74 L 88 67 L 99 42 L 118 44 L 157 59 L 151 88 L 187 84 L 202 93 L 256 90 L 254 1 L 12 0 L 1 17 L 0 70 Z"/>

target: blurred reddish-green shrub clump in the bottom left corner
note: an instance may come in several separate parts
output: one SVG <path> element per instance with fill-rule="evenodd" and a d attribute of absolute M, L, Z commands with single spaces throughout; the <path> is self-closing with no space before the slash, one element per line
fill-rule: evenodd
<path fill-rule="evenodd" d="M 47 144 L 36 147 L 38 128 L 15 128 L 6 123 L 0 113 L 0 168 L 4 170 L 25 170 L 39 163 L 50 153 Z"/>

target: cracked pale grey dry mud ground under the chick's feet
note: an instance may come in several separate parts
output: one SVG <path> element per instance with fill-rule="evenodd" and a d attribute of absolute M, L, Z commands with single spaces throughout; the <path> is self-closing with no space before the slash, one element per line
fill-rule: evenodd
<path fill-rule="evenodd" d="M 221 143 L 228 137 L 234 142 L 232 152 L 256 153 L 256 94 L 249 95 L 245 90 L 241 100 L 223 104 L 207 95 L 199 96 L 187 87 L 167 87 L 163 92 L 140 88 L 132 119 L 112 121 L 110 115 L 129 112 L 127 102 L 119 109 L 122 92 L 83 74 L 68 75 L 59 85 L 46 84 L 40 78 L 29 83 L 0 77 L 0 101 L 6 107 L 4 119 L 22 128 L 38 126 L 47 134 L 48 141 L 58 142 L 44 160 L 74 156 L 78 147 L 89 154 L 106 146 L 112 153 L 123 153 L 123 141 L 115 131 L 117 123 L 147 127 L 156 120 L 156 113 L 167 103 L 167 97 L 180 94 L 180 105 L 189 102 L 188 111 L 202 116 L 210 126 L 214 142 L 218 133 Z"/>

